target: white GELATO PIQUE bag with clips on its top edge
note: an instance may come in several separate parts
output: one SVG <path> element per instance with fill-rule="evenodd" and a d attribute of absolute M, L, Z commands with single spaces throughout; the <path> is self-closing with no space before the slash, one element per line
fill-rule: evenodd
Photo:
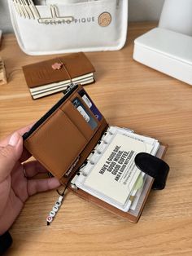
<path fill-rule="evenodd" d="M 116 51 L 127 38 L 128 0 L 8 0 L 22 51 Z"/>

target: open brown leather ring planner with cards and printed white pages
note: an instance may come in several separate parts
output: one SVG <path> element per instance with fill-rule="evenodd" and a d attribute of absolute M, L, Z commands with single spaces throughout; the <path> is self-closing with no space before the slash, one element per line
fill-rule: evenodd
<path fill-rule="evenodd" d="M 77 196 L 133 223 L 155 181 L 154 163 L 159 165 L 167 149 L 156 139 L 109 126 L 84 88 L 75 85 L 24 134 L 24 146 Z M 143 153 L 141 166 L 151 175 L 136 166 Z"/>

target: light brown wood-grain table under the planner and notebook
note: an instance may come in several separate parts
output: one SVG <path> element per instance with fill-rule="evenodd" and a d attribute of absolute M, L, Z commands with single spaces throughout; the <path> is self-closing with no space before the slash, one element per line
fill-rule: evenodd
<path fill-rule="evenodd" d="M 8 255 L 191 255 L 192 254 L 192 88 L 133 61 L 133 39 L 154 27 L 129 24 L 121 51 L 87 53 L 96 68 L 96 83 L 86 86 L 111 125 L 151 135 L 169 148 L 167 187 L 152 191 L 137 224 L 66 196 L 57 218 L 46 216 L 55 191 L 32 196 L 11 228 Z M 0 137 L 36 121 L 61 97 L 33 100 L 21 67 L 50 56 L 28 56 L 14 35 L 3 39 L 1 53 L 9 83 L 0 87 Z"/>

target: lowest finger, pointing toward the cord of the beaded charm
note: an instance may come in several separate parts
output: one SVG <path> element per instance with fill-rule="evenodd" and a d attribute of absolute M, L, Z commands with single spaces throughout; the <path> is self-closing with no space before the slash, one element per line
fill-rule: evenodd
<path fill-rule="evenodd" d="M 33 196 L 38 192 L 46 192 L 54 188 L 59 188 L 59 186 L 59 180 L 56 178 L 30 179 L 28 180 L 28 196 Z"/>

